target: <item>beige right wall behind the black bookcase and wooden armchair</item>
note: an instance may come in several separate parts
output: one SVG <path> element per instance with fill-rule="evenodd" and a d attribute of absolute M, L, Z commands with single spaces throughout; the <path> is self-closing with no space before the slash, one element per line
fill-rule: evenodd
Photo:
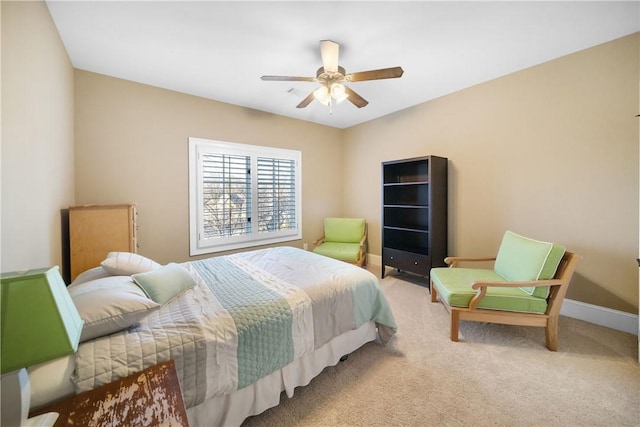
<path fill-rule="evenodd" d="M 584 258 L 569 298 L 638 312 L 638 45 L 625 37 L 345 131 L 344 211 L 380 254 L 380 162 L 448 157 L 449 253 L 505 230 Z M 435 83 L 434 83 L 435 84 Z M 363 155 L 366 153 L 366 155 Z"/>

